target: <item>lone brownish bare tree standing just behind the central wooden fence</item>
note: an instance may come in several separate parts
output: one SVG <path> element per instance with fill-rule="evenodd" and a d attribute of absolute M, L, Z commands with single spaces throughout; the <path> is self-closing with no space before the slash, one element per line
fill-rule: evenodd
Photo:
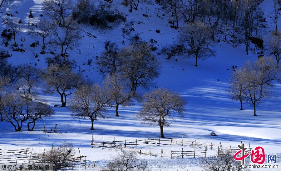
<path fill-rule="evenodd" d="M 141 112 L 136 115 L 137 118 L 140 118 L 143 123 L 158 125 L 160 127 L 160 137 L 165 138 L 163 128 L 170 126 L 167 119 L 172 119 L 173 113 L 182 116 L 185 111 L 185 100 L 176 95 L 176 92 L 171 92 L 164 88 L 145 93 L 144 98 L 145 101 Z"/>

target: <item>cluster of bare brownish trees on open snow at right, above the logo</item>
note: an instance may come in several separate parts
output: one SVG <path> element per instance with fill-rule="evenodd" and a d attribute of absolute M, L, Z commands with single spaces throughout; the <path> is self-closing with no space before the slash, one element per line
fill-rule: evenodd
<path fill-rule="evenodd" d="M 230 77 L 230 97 L 240 102 L 240 110 L 243 110 L 243 102 L 250 103 L 254 107 L 254 116 L 257 116 L 256 106 L 269 98 L 273 81 L 280 81 L 280 74 L 273 58 L 259 57 L 253 63 L 247 61 L 244 67 L 235 70 Z"/>

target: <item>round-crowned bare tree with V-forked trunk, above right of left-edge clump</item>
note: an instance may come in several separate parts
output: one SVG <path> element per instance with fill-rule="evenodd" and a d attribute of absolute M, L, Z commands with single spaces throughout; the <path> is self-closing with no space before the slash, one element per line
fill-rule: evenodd
<path fill-rule="evenodd" d="M 46 71 L 42 71 L 42 79 L 45 81 L 45 92 L 54 94 L 56 91 L 61 96 L 62 106 L 66 106 L 67 96 L 74 93 L 74 89 L 82 82 L 82 75 L 76 74 L 68 66 L 51 65 Z"/>

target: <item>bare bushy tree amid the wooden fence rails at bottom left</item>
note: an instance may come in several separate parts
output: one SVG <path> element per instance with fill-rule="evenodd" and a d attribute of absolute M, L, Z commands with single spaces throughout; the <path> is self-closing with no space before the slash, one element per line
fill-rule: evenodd
<path fill-rule="evenodd" d="M 73 166 L 73 155 L 75 149 L 72 144 L 64 143 L 58 147 L 46 150 L 44 155 L 40 155 L 40 161 L 49 163 L 53 166 L 53 171 L 71 168 Z M 42 157 L 42 158 L 41 158 Z"/>

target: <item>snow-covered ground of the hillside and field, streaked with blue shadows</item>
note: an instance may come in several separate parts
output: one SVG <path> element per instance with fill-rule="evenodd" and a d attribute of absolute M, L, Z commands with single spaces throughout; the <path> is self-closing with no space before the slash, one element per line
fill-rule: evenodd
<path fill-rule="evenodd" d="M 3 7 L 1 7 L 3 13 L 0 14 L 1 20 L 7 17 L 5 14 L 9 12 L 15 15 L 14 18 L 21 18 L 25 24 L 26 22 L 37 22 L 37 18 L 40 18 L 39 15 L 42 13 L 40 11 L 41 2 L 41 0 L 14 1 L 9 7 L 3 4 Z M 264 0 L 260 7 L 265 12 L 266 20 L 270 21 L 268 29 L 272 30 L 274 24 L 269 16 L 270 3 L 270 0 Z M 142 16 L 145 13 L 146 6 L 150 8 L 150 11 L 147 12 L 150 16 L 149 19 Z M 134 19 L 143 22 L 142 24 L 135 24 L 136 31 L 132 34 L 143 32 L 140 35 L 142 39 L 146 41 L 157 40 L 155 45 L 158 49 L 155 54 L 161 49 L 161 45 L 174 41 L 173 38 L 176 39 L 178 33 L 178 30 L 170 28 L 166 17 L 156 17 L 156 11 L 154 10 L 156 7 L 159 6 L 157 4 L 141 4 L 140 9 L 134 10 L 133 14 L 129 13 L 127 8 L 120 7 L 122 12 L 128 14 L 128 21 Z M 34 13 L 33 19 L 27 17 L 29 9 L 32 9 Z M 16 14 L 16 11 L 18 14 Z M 181 23 L 180 25 L 185 24 Z M 88 79 L 97 83 L 102 82 L 102 75 L 99 74 L 94 62 L 92 66 L 87 65 L 88 59 L 95 61 L 96 56 L 104 49 L 106 40 L 119 43 L 121 48 L 128 45 L 128 41 L 121 44 L 122 27 L 120 25 L 117 26 L 117 29 L 102 31 L 83 26 L 82 35 L 85 35 L 85 37 L 82 37 L 80 46 L 75 47 L 72 52 L 69 51 L 69 56 L 76 61 L 78 66 L 81 66 L 81 70 L 85 70 L 83 72 L 85 77 L 87 76 Z M 3 29 L 4 24 L 2 24 L 1 32 Z M 160 33 L 156 33 L 156 29 L 159 29 Z M 95 35 L 97 38 L 90 37 L 88 33 Z M 21 41 L 21 39 L 25 40 Z M 42 55 L 39 54 L 39 48 L 30 47 L 30 44 L 35 40 L 39 40 L 39 43 L 41 43 L 41 39 L 27 36 L 27 32 L 17 35 L 17 42 L 23 44 L 26 52 L 11 51 L 12 57 L 8 58 L 8 61 L 14 64 L 34 65 L 36 63 L 37 67 L 46 67 L 44 59 L 51 54 Z M 53 47 L 47 45 L 47 52 L 50 52 L 51 49 Z M 162 64 L 162 71 L 159 78 L 155 79 L 155 86 L 175 90 L 188 102 L 185 106 L 184 117 L 175 117 L 171 127 L 164 128 L 164 135 L 178 139 L 181 139 L 183 135 L 184 140 L 187 141 L 196 140 L 208 144 L 212 142 L 216 145 L 221 142 L 223 146 L 237 147 L 241 141 L 244 141 L 245 144 L 250 143 L 252 148 L 263 146 L 266 154 L 278 154 L 277 162 L 281 167 L 281 84 L 275 82 L 274 93 L 258 106 L 258 116 L 253 116 L 253 109 L 249 104 L 244 104 L 244 110 L 239 110 L 239 102 L 231 101 L 226 91 L 229 86 L 228 79 L 232 73 L 232 66 L 241 67 L 247 60 L 255 61 L 258 54 L 253 54 L 250 51 L 249 55 L 246 55 L 243 44 L 234 49 L 231 44 L 225 42 L 215 42 L 212 49 L 216 51 L 216 57 L 204 61 L 199 60 L 199 67 L 195 67 L 193 58 L 174 57 L 166 60 L 164 55 L 156 54 Z M 36 54 L 39 54 L 38 58 L 34 58 Z M 175 59 L 178 61 L 175 61 Z M 86 65 L 83 63 L 86 63 Z M 142 90 L 142 92 L 145 91 L 147 90 Z M 41 96 L 51 106 L 60 105 L 60 97 L 57 94 L 46 95 L 42 93 Z M 114 155 L 115 152 L 100 148 L 92 149 L 90 146 L 92 135 L 95 136 L 96 141 L 101 141 L 102 137 L 105 141 L 112 141 L 114 138 L 116 141 L 121 141 L 159 137 L 159 127 L 142 126 L 141 122 L 135 118 L 134 115 L 140 108 L 141 104 L 138 103 L 126 108 L 121 107 L 119 108 L 121 117 L 115 117 L 114 109 L 109 109 L 107 112 L 109 118 L 95 122 L 95 130 L 93 131 L 89 129 L 91 126 L 89 120 L 74 120 L 68 107 L 53 107 L 56 114 L 45 121 L 36 122 L 35 130 L 31 132 L 27 131 L 26 126 L 23 126 L 22 132 L 14 132 L 13 127 L 8 122 L 0 122 L 0 149 L 34 147 L 35 151 L 42 151 L 44 147 L 51 147 L 66 141 L 73 143 L 74 146 L 79 146 L 81 154 L 87 156 L 87 163 L 93 164 L 96 161 L 96 167 L 106 167 L 110 161 L 109 157 Z M 57 124 L 58 131 L 61 134 L 42 132 L 43 123 L 45 123 L 47 129 L 53 129 Z M 210 132 L 215 132 L 218 136 L 210 136 Z M 172 146 L 159 148 L 170 150 Z M 208 151 L 207 156 L 213 153 Z M 201 169 L 199 158 L 169 159 L 143 155 L 141 158 L 147 159 L 153 170 L 159 170 L 159 166 L 161 170 Z"/>

